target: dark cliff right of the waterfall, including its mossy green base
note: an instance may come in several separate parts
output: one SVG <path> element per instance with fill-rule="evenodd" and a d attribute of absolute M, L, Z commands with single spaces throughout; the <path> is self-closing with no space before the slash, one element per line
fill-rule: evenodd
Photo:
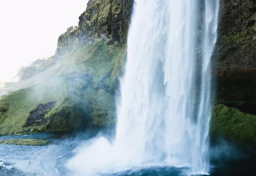
<path fill-rule="evenodd" d="M 219 16 L 212 66 L 222 105 L 214 106 L 212 137 L 255 146 L 256 0 L 221 0 Z"/>

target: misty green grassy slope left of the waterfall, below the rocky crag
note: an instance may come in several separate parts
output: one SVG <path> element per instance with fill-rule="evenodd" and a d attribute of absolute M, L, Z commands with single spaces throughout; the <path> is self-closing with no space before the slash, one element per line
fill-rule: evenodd
<path fill-rule="evenodd" d="M 62 56 L 56 66 L 41 73 L 44 78 L 49 75 L 46 81 L 0 99 L 0 135 L 21 134 L 27 128 L 71 130 L 84 123 L 82 118 L 88 118 L 88 123 L 91 119 L 92 123 L 87 124 L 90 126 L 114 123 L 114 92 L 126 47 L 106 43 L 98 40 L 83 47 L 76 43 L 74 50 Z M 40 79 L 40 75 L 34 79 Z M 46 124 L 26 126 L 31 111 L 53 101 L 57 102 L 56 107 L 44 117 Z"/>

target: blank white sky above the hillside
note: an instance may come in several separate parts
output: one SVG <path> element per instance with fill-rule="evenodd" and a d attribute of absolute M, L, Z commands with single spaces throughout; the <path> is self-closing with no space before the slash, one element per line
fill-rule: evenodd
<path fill-rule="evenodd" d="M 78 17 L 88 0 L 0 0 L 0 82 L 21 66 L 52 56 L 58 36 Z"/>

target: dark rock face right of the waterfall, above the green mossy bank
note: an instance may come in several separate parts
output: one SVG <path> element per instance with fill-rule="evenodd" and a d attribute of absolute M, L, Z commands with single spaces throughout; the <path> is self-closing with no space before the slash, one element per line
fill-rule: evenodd
<path fill-rule="evenodd" d="M 213 69 L 217 98 L 256 104 L 256 0 L 222 0 Z"/>

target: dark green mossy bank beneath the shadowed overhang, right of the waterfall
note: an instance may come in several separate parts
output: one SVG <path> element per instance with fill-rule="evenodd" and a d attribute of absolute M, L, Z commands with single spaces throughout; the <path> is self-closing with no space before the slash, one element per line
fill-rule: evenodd
<path fill-rule="evenodd" d="M 224 104 L 215 104 L 211 120 L 214 138 L 256 146 L 256 116 Z"/>

